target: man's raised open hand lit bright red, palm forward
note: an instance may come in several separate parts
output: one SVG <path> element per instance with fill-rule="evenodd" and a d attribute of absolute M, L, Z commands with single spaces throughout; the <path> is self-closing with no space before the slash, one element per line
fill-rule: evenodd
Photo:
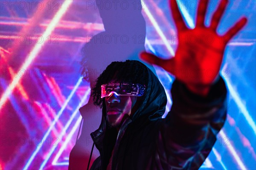
<path fill-rule="evenodd" d="M 228 0 L 221 0 L 210 26 L 206 27 L 204 20 L 208 2 L 209 0 L 200 0 L 196 26 L 190 29 L 183 21 L 176 0 L 170 0 L 179 40 L 175 57 L 160 59 L 154 54 L 141 54 L 143 60 L 164 68 L 185 83 L 189 90 L 203 96 L 207 95 L 210 86 L 218 78 L 227 42 L 247 23 L 247 19 L 243 17 L 226 34 L 218 35 L 216 30 Z"/>

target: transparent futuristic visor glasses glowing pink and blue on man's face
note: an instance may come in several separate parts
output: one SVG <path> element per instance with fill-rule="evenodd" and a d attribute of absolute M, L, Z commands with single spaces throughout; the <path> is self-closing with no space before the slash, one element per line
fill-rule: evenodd
<path fill-rule="evenodd" d="M 132 83 L 110 83 L 101 86 L 101 98 L 115 93 L 118 96 L 143 96 L 145 85 Z"/>

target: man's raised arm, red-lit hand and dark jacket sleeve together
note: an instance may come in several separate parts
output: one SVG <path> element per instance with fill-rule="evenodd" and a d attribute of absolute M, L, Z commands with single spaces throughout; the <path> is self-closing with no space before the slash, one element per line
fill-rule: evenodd
<path fill-rule="evenodd" d="M 227 90 L 219 71 L 227 42 L 243 28 L 247 19 L 241 18 L 221 36 L 216 30 L 227 0 L 221 0 L 209 27 L 204 25 L 209 0 L 200 0 L 194 29 L 186 27 L 176 0 L 169 2 L 179 40 L 175 57 L 160 59 L 144 52 L 141 58 L 176 78 L 172 86 L 172 109 L 157 136 L 159 161 L 164 169 L 194 170 L 206 159 L 224 125 Z M 196 40 L 186 41 L 190 37 Z M 211 37 L 212 42 L 206 37 Z M 181 74 L 186 71 L 194 76 Z"/>

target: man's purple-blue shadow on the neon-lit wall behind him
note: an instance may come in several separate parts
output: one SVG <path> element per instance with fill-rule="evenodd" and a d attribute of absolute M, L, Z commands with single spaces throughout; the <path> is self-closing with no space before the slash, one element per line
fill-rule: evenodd
<path fill-rule="evenodd" d="M 127 59 L 139 60 L 140 52 L 145 51 L 146 24 L 141 13 L 140 0 L 121 0 L 116 5 L 112 4 L 112 6 L 108 4 L 110 1 L 106 2 L 104 0 L 96 0 L 95 2 L 105 31 L 94 35 L 82 49 L 81 73 L 84 79 L 90 82 L 91 87 L 95 84 L 96 78 L 111 62 Z M 155 73 L 152 66 L 148 67 Z M 87 105 L 93 105 L 92 97 L 90 97 Z M 87 167 L 88 153 L 90 154 L 88 150 L 91 148 L 79 141 L 83 141 L 88 136 L 87 134 L 91 133 L 88 132 L 86 118 L 94 116 L 95 121 L 100 121 L 102 115 L 101 109 L 98 109 L 95 113 L 94 107 L 88 109 L 87 105 L 80 108 L 84 123 L 81 136 L 70 153 L 69 169 L 84 169 Z M 95 156 L 93 156 L 90 165 L 95 159 Z"/>

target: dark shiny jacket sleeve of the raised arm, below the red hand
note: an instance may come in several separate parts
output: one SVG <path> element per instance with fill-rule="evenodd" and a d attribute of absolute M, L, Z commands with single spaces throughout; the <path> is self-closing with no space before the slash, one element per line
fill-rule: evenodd
<path fill-rule="evenodd" d="M 157 152 L 165 169 L 198 169 L 209 155 L 226 119 L 227 89 L 220 77 L 206 97 L 183 83 L 172 85 L 173 105 L 160 126 Z"/>

